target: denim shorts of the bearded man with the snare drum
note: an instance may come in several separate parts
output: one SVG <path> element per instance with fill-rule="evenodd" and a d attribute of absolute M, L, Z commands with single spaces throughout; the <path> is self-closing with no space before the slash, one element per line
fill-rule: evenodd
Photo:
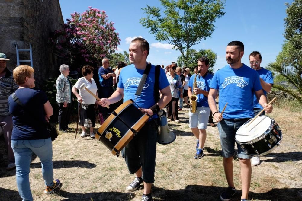
<path fill-rule="evenodd" d="M 235 140 L 235 134 L 237 130 L 242 126 L 244 123 L 246 123 L 249 120 L 249 118 L 245 119 L 222 119 L 218 123 L 218 131 L 219 131 L 219 137 L 220 137 L 220 144 L 221 144 L 221 155 L 224 158 L 230 158 L 234 156 L 235 153 L 235 147 L 234 143 Z M 237 144 L 237 152 L 238 152 L 238 158 L 242 159 L 251 159 L 252 156 L 248 155 L 246 152 L 243 151 L 243 149 L 240 147 L 240 145 Z"/>

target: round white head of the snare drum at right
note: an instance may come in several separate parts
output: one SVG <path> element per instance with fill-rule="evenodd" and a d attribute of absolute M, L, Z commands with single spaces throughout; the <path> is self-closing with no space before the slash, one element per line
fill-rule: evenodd
<path fill-rule="evenodd" d="M 237 130 L 235 138 L 238 142 L 250 142 L 259 138 L 273 125 L 273 121 L 268 116 L 258 116 L 249 126 L 252 119 L 248 120 Z"/>

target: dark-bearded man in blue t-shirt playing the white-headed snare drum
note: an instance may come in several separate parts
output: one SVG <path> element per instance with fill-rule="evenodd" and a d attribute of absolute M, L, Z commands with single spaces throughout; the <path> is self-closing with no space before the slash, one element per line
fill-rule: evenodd
<path fill-rule="evenodd" d="M 240 41 L 232 41 L 226 47 L 226 65 L 217 71 L 210 83 L 208 102 L 213 112 L 213 117 L 218 123 L 220 143 L 222 147 L 223 168 L 229 185 L 227 190 L 220 195 L 220 199 L 228 201 L 236 193 L 233 180 L 233 156 L 235 134 L 241 125 L 249 118 L 254 117 L 253 97 L 254 92 L 260 105 L 266 113 L 271 113 L 273 107 L 267 104 L 265 95 L 259 81 L 258 73 L 241 63 L 244 45 Z M 219 111 L 226 103 L 223 116 L 216 108 L 215 97 L 219 90 Z M 251 183 L 252 167 L 251 156 L 247 155 L 237 143 L 238 158 L 240 161 L 240 175 L 242 194 L 241 200 L 248 199 Z"/>

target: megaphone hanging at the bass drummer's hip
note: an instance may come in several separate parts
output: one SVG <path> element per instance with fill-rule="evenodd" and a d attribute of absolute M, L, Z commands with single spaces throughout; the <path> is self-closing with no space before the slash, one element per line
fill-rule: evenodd
<path fill-rule="evenodd" d="M 162 145 L 167 145 L 176 139 L 176 135 L 170 131 L 168 127 L 167 116 L 164 110 L 159 110 L 159 135 L 157 137 L 157 142 Z"/>

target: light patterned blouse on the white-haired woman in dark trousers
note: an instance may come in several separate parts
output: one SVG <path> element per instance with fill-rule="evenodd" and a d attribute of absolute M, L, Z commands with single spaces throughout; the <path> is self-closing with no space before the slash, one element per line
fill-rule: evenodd
<path fill-rule="evenodd" d="M 56 93 L 56 101 L 58 103 L 63 103 L 71 102 L 71 88 L 72 84 L 69 78 L 65 77 L 63 74 L 59 75 L 58 79 L 56 80 L 56 88 L 57 88 L 57 93 Z"/>

